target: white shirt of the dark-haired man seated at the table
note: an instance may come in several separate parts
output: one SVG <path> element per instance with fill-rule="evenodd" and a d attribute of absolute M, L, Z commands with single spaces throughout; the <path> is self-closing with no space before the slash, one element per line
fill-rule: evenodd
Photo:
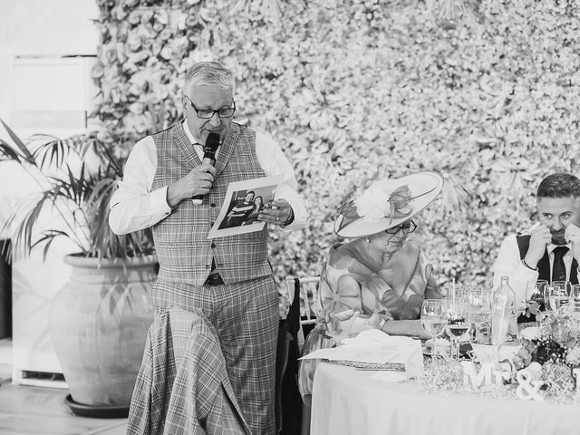
<path fill-rule="evenodd" d="M 569 247 L 568 251 L 564 255 L 564 265 L 566 280 L 570 280 L 570 274 L 578 274 L 578 271 L 572 271 L 572 260 L 574 256 L 572 255 L 572 246 L 570 244 L 564 245 Z M 557 245 L 550 243 L 546 248 L 548 252 L 548 258 L 550 260 L 550 277 L 552 275 L 552 266 L 554 265 L 554 249 Z M 514 290 L 516 294 L 516 302 L 519 306 L 526 306 L 526 301 L 530 295 L 526 294 L 527 283 L 530 281 L 536 281 L 538 272 L 537 270 L 532 270 L 522 263 L 519 256 L 519 248 L 517 247 L 517 238 L 515 234 L 507 236 L 501 247 L 499 247 L 498 258 L 493 265 L 493 288 L 498 288 L 501 277 L 507 276 L 509 278 L 509 286 Z M 550 280 L 551 281 L 551 280 Z"/>

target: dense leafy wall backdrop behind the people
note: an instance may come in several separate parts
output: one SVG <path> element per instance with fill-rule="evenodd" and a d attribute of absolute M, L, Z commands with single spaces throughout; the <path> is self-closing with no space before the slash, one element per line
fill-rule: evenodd
<path fill-rule="evenodd" d="M 564 0 L 97 0 L 100 132 L 119 152 L 178 120 L 198 60 L 237 74 L 237 121 L 271 134 L 311 211 L 271 232 L 275 275 L 317 275 L 350 189 L 424 169 L 446 187 L 413 238 L 440 283 L 490 285 L 533 193 L 578 172 L 580 10 Z"/>

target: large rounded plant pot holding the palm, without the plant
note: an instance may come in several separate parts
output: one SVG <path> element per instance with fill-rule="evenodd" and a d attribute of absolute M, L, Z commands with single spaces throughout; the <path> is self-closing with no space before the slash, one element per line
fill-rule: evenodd
<path fill-rule="evenodd" d="M 50 333 L 73 401 L 129 406 L 153 321 L 156 256 L 65 256 L 69 282 L 53 299 Z"/>

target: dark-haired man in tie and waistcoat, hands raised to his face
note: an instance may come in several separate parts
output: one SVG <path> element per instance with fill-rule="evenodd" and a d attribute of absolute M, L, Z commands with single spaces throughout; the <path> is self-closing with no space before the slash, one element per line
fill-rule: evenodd
<path fill-rule="evenodd" d="M 536 192 L 539 222 L 528 231 L 507 236 L 493 266 L 493 286 L 509 277 L 516 305 L 525 305 L 528 282 L 578 283 L 580 261 L 580 179 L 565 173 L 543 179 Z"/>

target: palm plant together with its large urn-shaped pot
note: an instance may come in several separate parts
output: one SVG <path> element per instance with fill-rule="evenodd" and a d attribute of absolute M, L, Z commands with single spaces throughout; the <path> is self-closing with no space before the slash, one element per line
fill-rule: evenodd
<path fill-rule="evenodd" d="M 96 132 L 67 140 L 35 135 L 24 143 L 0 122 L 14 142 L 0 140 L 0 164 L 16 162 L 40 187 L 5 222 L 14 247 L 24 255 L 42 247 L 46 256 L 58 237 L 78 247 L 64 258 L 72 275 L 53 298 L 49 321 L 70 401 L 127 410 L 152 321 L 157 258 L 150 231 L 118 237 L 109 228 L 109 201 L 123 157 Z M 59 214 L 62 225 L 39 231 L 46 212 Z"/>

